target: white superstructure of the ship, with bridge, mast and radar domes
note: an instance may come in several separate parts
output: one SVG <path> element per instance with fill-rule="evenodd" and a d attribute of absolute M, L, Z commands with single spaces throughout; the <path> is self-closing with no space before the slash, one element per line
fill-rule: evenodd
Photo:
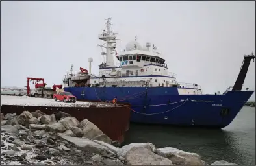
<path fill-rule="evenodd" d="M 168 65 L 155 45 L 149 42 L 142 47 L 135 37 L 127 43 L 125 50 L 117 53 L 116 35 L 111 30 L 111 18 L 107 19 L 107 29 L 99 34 L 99 40 L 105 43 L 98 45 L 105 49 L 100 54 L 105 56 L 105 62 L 99 65 L 99 75 L 92 75 L 86 70 L 73 74 L 67 73 L 63 82 L 64 87 L 177 87 L 180 95 L 201 95 L 201 88 L 197 84 L 184 84 L 176 81 L 176 75 L 168 71 Z M 120 62 L 114 65 L 114 58 Z M 92 62 L 90 58 L 89 63 Z M 90 70 L 90 69 L 89 69 Z"/>

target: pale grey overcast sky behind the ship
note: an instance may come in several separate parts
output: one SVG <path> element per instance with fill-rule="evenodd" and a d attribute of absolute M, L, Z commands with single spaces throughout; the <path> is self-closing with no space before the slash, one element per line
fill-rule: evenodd
<path fill-rule="evenodd" d="M 244 54 L 255 53 L 255 1 L 1 1 L 1 86 L 26 86 L 26 77 L 62 84 L 89 57 L 98 74 L 97 35 L 109 17 L 119 50 L 136 35 L 155 44 L 177 81 L 203 93 L 233 86 Z M 246 87 L 255 89 L 255 62 Z"/>

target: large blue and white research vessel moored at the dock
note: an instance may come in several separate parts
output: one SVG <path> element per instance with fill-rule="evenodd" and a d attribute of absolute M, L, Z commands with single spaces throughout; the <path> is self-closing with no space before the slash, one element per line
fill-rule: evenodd
<path fill-rule="evenodd" d="M 127 43 L 125 50 L 116 51 L 117 33 L 112 31 L 111 18 L 106 29 L 99 34 L 104 43 L 100 54 L 105 62 L 99 64 L 99 75 L 80 71 L 64 76 L 64 90 L 71 92 L 78 101 L 111 102 L 131 105 L 131 122 L 168 124 L 179 126 L 203 126 L 224 128 L 251 97 L 254 91 L 242 91 L 244 79 L 251 60 L 255 56 L 245 55 L 234 86 L 224 93 L 203 94 L 196 83 L 177 82 L 176 75 L 168 71 L 168 64 L 155 45 L 144 46 L 134 41 Z M 114 58 L 120 62 L 115 65 Z"/>

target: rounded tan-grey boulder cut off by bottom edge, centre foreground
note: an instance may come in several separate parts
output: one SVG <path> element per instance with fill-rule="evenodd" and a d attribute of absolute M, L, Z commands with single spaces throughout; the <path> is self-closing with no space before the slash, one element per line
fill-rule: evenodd
<path fill-rule="evenodd" d="M 153 153 L 148 148 L 133 147 L 125 155 L 127 165 L 172 165 L 172 161 L 158 154 Z"/>

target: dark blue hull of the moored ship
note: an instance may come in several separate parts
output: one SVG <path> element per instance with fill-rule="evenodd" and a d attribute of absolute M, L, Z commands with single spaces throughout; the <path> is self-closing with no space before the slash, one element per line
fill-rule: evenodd
<path fill-rule="evenodd" d="M 175 87 L 68 87 L 64 90 L 81 101 L 112 101 L 117 97 L 118 102 L 131 104 L 131 122 L 208 128 L 229 125 L 254 92 L 179 95 Z"/>

